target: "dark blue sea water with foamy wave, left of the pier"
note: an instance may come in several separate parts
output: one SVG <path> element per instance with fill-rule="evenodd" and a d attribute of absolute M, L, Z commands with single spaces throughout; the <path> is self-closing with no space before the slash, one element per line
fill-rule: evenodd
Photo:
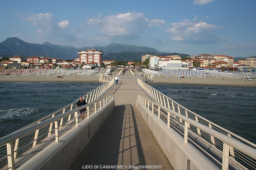
<path fill-rule="evenodd" d="M 0 82 L 0 137 L 70 104 L 101 83 Z"/>

